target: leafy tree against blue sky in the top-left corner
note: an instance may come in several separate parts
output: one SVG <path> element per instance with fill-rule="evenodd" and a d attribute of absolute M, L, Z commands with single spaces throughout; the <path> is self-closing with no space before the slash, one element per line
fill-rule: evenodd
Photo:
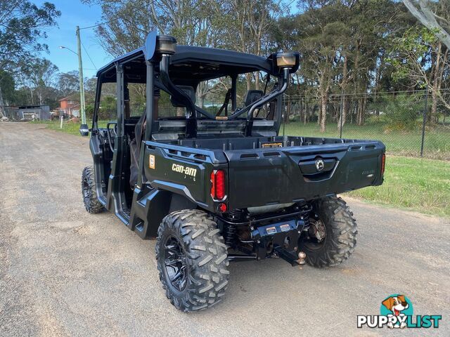
<path fill-rule="evenodd" d="M 45 28 L 56 25 L 60 15 L 55 5 L 44 2 L 40 7 L 30 1 L 0 1 L 0 69 L 15 72 L 32 55 L 48 51 L 41 39 Z M 4 99 L 0 87 L 0 117 L 4 114 Z"/>

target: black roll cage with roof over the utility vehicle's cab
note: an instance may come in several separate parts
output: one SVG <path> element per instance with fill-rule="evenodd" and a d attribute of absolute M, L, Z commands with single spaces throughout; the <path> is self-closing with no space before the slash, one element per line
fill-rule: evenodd
<path fill-rule="evenodd" d="M 152 139 L 153 134 L 160 131 L 157 121 L 153 120 L 155 116 L 153 113 L 155 110 L 155 88 L 166 91 L 174 96 L 177 102 L 186 107 L 184 138 L 195 138 L 198 124 L 205 124 L 206 121 L 217 121 L 222 125 L 222 128 L 243 128 L 243 134 L 251 136 L 252 128 L 258 128 L 258 125 L 254 126 L 253 121 L 255 109 L 276 100 L 287 88 L 289 74 L 295 72 L 299 65 L 297 54 L 295 54 L 295 66 L 282 69 L 276 66 L 275 53 L 269 55 L 268 58 L 263 58 L 236 51 L 193 46 L 176 46 L 173 55 L 158 53 L 157 39 L 156 33 L 151 32 L 148 34 L 146 44 L 143 47 L 116 58 L 98 70 L 93 129 L 98 128 L 98 108 L 102 84 L 116 83 L 117 134 L 121 136 L 123 135 L 124 122 L 128 118 L 124 113 L 124 88 L 128 83 L 140 83 L 146 84 L 146 121 L 147 125 L 151 126 L 146 128 L 145 140 Z M 238 75 L 259 71 L 266 72 L 268 77 L 276 78 L 278 86 L 250 105 L 238 109 L 236 105 Z M 192 86 L 196 90 L 200 81 L 224 76 L 231 77 L 230 115 L 218 117 L 207 112 L 195 105 L 188 95 L 178 88 L 179 86 Z M 276 109 L 277 115 L 274 117 L 274 124 L 271 126 L 272 133 L 278 133 L 281 121 L 281 100 L 276 100 L 276 103 L 278 109 Z M 243 115 L 245 116 L 244 125 L 241 121 Z M 267 127 L 267 125 L 264 125 L 264 130 Z"/>

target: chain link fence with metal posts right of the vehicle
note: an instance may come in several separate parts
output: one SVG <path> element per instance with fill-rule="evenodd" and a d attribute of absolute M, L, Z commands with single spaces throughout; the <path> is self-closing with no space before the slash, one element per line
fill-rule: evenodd
<path fill-rule="evenodd" d="M 389 154 L 450 161 L 446 103 L 446 91 L 329 95 L 326 100 L 285 95 L 281 133 L 381 140 Z"/>

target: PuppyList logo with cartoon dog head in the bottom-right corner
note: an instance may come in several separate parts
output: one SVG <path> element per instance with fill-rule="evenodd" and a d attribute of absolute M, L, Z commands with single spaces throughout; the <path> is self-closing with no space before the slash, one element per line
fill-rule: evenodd
<path fill-rule="evenodd" d="M 413 316 L 413 303 L 404 295 L 394 294 L 381 302 L 380 315 L 358 315 L 357 327 L 390 329 L 439 328 L 442 315 Z"/>

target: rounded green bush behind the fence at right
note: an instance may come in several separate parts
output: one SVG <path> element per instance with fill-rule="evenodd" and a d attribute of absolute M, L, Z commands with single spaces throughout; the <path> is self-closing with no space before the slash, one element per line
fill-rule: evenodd
<path fill-rule="evenodd" d="M 422 112 L 423 100 L 417 95 L 398 95 L 387 103 L 381 119 L 385 131 L 411 131 L 420 126 Z"/>

